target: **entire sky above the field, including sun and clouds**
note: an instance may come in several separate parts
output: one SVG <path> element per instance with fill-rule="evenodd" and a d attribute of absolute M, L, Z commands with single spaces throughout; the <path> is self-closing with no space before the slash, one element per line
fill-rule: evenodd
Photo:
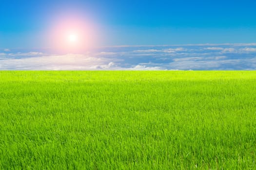
<path fill-rule="evenodd" d="M 255 0 L 1 0 L 0 69 L 256 69 L 255 7 Z"/>

